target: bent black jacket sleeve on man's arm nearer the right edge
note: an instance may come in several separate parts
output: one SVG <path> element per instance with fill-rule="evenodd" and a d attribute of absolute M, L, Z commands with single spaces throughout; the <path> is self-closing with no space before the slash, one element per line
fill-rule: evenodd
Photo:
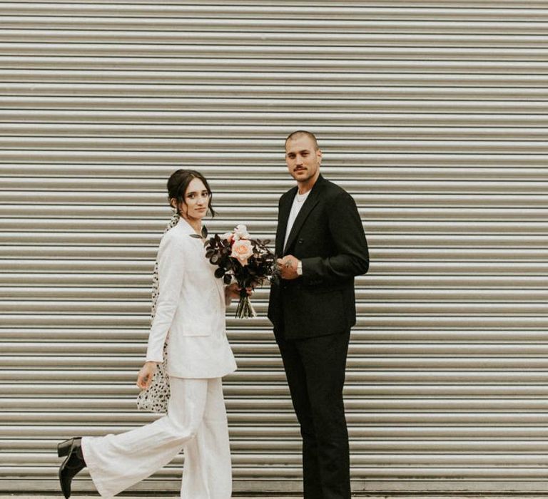
<path fill-rule="evenodd" d="M 327 206 L 328 225 L 336 248 L 333 256 L 303 258 L 305 285 L 336 284 L 369 269 L 369 251 L 356 204 L 345 191 Z"/>

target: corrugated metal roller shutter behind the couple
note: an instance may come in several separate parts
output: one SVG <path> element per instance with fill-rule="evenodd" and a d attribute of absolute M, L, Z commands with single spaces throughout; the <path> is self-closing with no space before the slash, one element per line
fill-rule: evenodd
<path fill-rule="evenodd" d="M 443 7 L 440 7 L 442 5 Z M 371 246 L 347 371 L 358 490 L 544 490 L 546 1 L 0 1 L 0 490 L 134 409 L 164 183 L 272 237 L 283 137 L 318 133 Z M 283 371 L 228 319 L 236 490 L 298 490 Z M 182 458 L 135 490 L 178 490 Z M 86 475 L 76 490 L 92 490 Z"/>

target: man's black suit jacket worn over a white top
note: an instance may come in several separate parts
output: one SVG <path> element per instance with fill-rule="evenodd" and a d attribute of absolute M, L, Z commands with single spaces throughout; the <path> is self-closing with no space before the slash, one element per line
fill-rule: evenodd
<path fill-rule="evenodd" d="M 369 267 L 360 215 L 352 197 L 320 175 L 283 248 L 296 192 L 280 197 L 275 252 L 300 259 L 303 275 L 271 285 L 268 318 L 285 339 L 342 333 L 356 323 L 354 277 Z"/>

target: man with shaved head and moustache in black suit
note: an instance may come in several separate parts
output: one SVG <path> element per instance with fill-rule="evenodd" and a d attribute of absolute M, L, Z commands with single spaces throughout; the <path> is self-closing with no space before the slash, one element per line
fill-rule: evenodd
<path fill-rule="evenodd" d="M 303 437 L 305 499 L 350 499 L 350 461 L 342 387 L 356 321 L 354 277 L 369 267 L 352 197 L 320 175 L 313 133 L 285 140 L 297 186 L 280 197 L 276 254 L 280 282 L 270 289 L 274 325 Z"/>

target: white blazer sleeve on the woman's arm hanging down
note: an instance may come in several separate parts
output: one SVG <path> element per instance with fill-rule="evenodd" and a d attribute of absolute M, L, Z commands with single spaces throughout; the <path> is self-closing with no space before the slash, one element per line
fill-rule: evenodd
<path fill-rule="evenodd" d="M 158 249 L 158 302 L 151 332 L 148 335 L 146 361 L 163 361 L 163 344 L 173 322 L 184 275 L 184 248 L 176 237 L 166 232 Z"/>

